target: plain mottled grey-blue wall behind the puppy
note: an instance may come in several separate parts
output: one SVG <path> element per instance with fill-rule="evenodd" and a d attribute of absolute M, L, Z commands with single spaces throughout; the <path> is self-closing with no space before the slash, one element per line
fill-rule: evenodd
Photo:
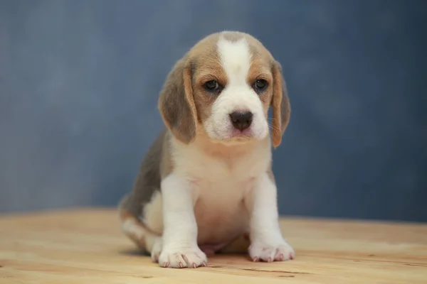
<path fill-rule="evenodd" d="M 252 33 L 292 102 L 281 214 L 427 221 L 427 1 L 0 1 L 0 212 L 115 205 L 169 68 Z"/>

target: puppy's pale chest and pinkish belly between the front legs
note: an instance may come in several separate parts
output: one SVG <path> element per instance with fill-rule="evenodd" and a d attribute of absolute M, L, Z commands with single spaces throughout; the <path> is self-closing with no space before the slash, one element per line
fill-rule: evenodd
<path fill-rule="evenodd" d="M 241 234 L 248 226 L 248 212 L 243 200 L 250 192 L 253 180 L 268 170 L 268 148 L 218 157 L 186 147 L 179 148 L 174 161 L 176 170 L 194 185 L 199 241 L 218 242 Z"/>

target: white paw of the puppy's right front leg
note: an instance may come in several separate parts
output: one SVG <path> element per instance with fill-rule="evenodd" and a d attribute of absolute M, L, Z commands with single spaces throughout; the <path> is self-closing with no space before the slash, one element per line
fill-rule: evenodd
<path fill-rule="evenodd" d="M 285 241 L 280 244 L 255 242 L 249 246 L 249 256 L 253 261 L 288 261 L 295 258 L 295 251 Z"/>

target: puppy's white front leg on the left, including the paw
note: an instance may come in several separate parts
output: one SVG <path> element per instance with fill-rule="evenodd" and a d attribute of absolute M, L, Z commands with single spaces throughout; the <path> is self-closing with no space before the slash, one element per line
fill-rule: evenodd
<path fill-rule="evenodd" d="M 163 246 L 159 264 L 169 268 L 206 266 L 206 255 L 197 245 L 197 224 L 191 184 L 171 174 L 162 181 Z"/>

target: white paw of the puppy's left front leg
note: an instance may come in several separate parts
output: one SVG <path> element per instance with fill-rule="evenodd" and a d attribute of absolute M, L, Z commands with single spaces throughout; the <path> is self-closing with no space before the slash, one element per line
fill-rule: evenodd
<path fill-rule="evenodd" d="M 197 268 L 207 266 L 206 254 L 199 249 L 163 249 L 159 256 L 159 265 L 169 268 Z"/>

